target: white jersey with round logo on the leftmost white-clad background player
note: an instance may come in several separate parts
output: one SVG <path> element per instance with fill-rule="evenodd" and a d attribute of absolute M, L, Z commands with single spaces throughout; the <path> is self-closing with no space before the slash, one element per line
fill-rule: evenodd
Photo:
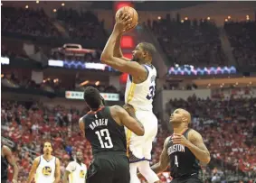
<path fill-rule="evenodd" d="M 40 156 L 39 165 L 36 169 L 35 183 L 52 183 L 55 180 L 56 157 L 52 156 L 52 160 L 44 160 L 43 155 Z"/>

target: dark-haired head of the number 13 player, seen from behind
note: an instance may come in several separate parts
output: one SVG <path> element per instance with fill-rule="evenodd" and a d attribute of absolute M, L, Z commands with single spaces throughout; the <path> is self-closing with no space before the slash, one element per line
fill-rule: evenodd
<path fill-rule="evenodd" d="M 99 108 L 102 102 L 100 92 L 95 87 L 86 87 L 84 89 L 83 98 L 92 109 Z"/>

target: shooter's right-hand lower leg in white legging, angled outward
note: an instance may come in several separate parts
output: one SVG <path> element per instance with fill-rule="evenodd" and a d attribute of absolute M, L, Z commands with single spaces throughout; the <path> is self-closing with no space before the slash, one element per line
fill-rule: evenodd
<path fill-rule="evenodd" d="M 143 175 L 144 178 L 147 179 L 148 183 L 160 182 L 156 173 L 152 169 L 150 169 L 148 160 L 143 160 L 143 161 L 137 162 L 137 168 L 138 168 L 138 171 L 141 173 L 141 175 Z"/>

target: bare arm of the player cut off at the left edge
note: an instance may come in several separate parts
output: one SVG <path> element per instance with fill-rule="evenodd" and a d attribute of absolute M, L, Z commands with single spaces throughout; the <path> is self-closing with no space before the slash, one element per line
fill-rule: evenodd
<path fill-rule="evenodd" d="M 13 167 L 14 169 L 14 178 L 13 178 L 13 182 L 17 182 L 18 180 L 18 174 L 19 174 L 19 168 L 18 165 L 16 163 L 16 160 L 14 159 L 14 156 L 12 154 L 12 151 L 7 147 L 7 146 L 3 146 L 3 152 L 5 154 L 5 158 L 7 159 L 8 163 Z"/>

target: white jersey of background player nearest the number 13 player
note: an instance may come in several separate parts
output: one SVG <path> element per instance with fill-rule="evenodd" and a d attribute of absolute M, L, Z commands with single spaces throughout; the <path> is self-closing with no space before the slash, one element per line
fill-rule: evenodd
<path fill-rule="evenodd" d="M 69 183 L 85 183 L 85 176 L 87 173 L 86 165 L 81 163 L 77 163 L 76 161 L 70 162 L 72 164 L 72 169 L 68 169 L 71 171 L 69 175 Z M 69 165 L 68 165 L 69 167 Z"/>

